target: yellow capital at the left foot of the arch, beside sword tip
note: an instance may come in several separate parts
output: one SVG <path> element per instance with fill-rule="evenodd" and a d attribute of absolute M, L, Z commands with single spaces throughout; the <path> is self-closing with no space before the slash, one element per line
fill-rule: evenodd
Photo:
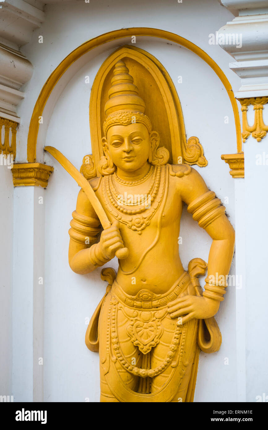
<path fill-rule="evenodd" d="M 13 165 L 14 187 L 47 187 L 49 176 L 54 168 L 42 163 L 17 163 Z"/>

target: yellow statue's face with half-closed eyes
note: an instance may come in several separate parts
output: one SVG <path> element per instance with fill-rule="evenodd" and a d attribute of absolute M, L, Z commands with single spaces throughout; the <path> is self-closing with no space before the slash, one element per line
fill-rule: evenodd
<path fill-rule="evenodd" d="M 108 129 L 106 147 L 113 163 L 127 172 L 145 165 L 150 152 L 150 135 L 144 124 L 115 125 Z"/>

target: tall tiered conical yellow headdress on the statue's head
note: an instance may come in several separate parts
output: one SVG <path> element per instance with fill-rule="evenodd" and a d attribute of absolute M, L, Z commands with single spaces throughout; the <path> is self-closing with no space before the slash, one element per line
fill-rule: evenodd
<path fill-rule="evenodd" d="M 119 60 L 115 64 L 114 77 L 108 91 L 109 100 L 105 103 L 105 116 L 103 131 L 114 125 L 128 125 L 133 122 L 143 123 L 151 132 L 151 121 L 144 114 L 145 103 L 138 95 L 138 88 L 133 84 L 126 64 Z"/>

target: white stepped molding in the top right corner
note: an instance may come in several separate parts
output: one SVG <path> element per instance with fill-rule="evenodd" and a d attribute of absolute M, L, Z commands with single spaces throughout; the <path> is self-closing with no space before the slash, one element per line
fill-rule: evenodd
<path fill-rule="evenodd" d="M 238 16 L 219 29 L 222 49 L 234 62 L 229 67 L 241 78 L 236 98 L 268 95 L 268 2 L 267 0 L 224 0 Z"/>

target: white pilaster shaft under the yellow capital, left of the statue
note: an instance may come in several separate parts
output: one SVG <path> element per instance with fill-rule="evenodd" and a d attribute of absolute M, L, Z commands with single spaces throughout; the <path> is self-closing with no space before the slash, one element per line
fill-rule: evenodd
<path fill-rule="evenodd" d="M 42 187 L 14 189 L 12 391 L 16 394 L 15 402 L 43 401 L 44 198 Z"/>

